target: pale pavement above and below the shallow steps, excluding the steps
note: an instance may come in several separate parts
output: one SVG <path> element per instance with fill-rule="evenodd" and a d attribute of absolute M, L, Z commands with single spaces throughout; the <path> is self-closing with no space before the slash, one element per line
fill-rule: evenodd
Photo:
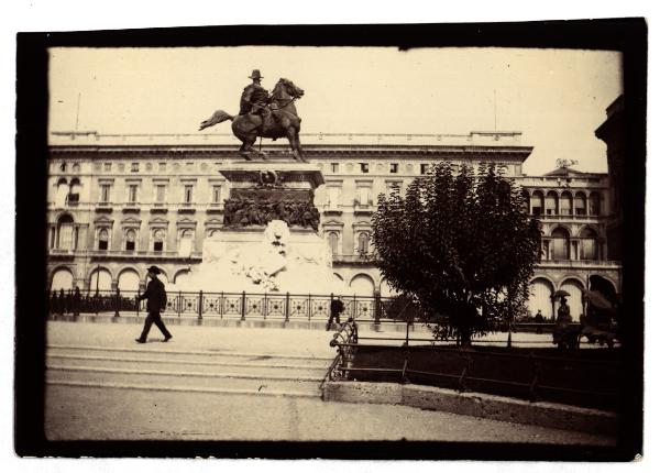
<path fill-rule="evenodd" d="M 138 345 L 135 323 L 47 324 L 50 345 L 172 351 L 207 350 L 334 356 L 331 334 L 316 330 L 173 326 L 174 339 Z M 155 354 L 155 353 L 154 353 Z M 320 398 L 125 389 L 46 387 L 52 440 L 448 440 L 612 446 L 614 439 L 428 411 L 407 406 L 323 403 Z"/>

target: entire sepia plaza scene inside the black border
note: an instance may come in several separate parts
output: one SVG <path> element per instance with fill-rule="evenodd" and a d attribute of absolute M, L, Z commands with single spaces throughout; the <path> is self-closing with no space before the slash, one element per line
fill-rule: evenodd
<path fill-rule="evenodd" d="M 47 441 L 617 448 L 622 52 L 47 54 Z"/>

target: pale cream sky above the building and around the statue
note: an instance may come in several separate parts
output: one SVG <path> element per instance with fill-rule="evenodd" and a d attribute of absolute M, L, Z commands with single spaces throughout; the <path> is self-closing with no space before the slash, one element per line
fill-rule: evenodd
<path fill-rule="evenodd" d="M 260 69 L 268 90 L 280 77 L 305 89 L 302 133 L 520 131 L 535 147 L 527 174 L 559 158 L 606 172 L 594 130 L 623 90 L 619 53 L 578 50 L 53 48 L 50 57 L 51 131 L 77 121 L 99 133 L 196 133 L 217 109 L 237 113 Z"/>

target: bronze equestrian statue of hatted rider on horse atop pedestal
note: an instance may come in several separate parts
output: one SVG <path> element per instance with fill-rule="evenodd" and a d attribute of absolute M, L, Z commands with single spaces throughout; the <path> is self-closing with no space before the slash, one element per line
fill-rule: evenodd
<path fill-rule="evenodd" d="M 263 160 L 267 158 L 266 153 L 254 147 L 257 136 L 272 138 L 273 141 L 286 136 L 294 152 L 294 158 L 306 163 L 298 138 L 301 120 L 294 105 L 296 99 L 302 97 L 305 90 L 290 80 L 282 78 L 270 95 L 261 86 L 263 76 L 258 69 L 254 69 L 249 78 L 252 79 L 252 84 L 243 89 L 239 114 L 233 117 L 223 110 L 218 110 L 211 118 L 201 122 L 199 131 L 231 120 L 233 134 L 243 142 L 240 152 L 245 160 L 252 161 L 254 154 Z"/>

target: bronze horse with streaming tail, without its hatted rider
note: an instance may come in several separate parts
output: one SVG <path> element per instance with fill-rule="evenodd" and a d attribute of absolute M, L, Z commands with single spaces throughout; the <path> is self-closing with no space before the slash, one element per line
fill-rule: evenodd
<path fill-rule="evenodd" d="M 273 140 L 286 136 L 294 152 L 294 158 L 306 163 L 307 161 L 302 157 L 300 139 L 298 138 L 301 120 L 294 105 L 294 101 L 302 97 L 304 94 L 305 90 L 290 80 L 279 79 L 270 98 L 268 108 L 272 113 L 266 116 L 265 122 L 263 116 L 242 114 L 234 117 L 223 110 L 218 110 L 210 119 L 201 122 L 199 131 L 222 123 L 226 120 L 231 120 L 233 134 L 243 142 L 240 152 L 245 160 L 252 161 L 251 154 L 253 153 L 266 160 L 267 154 L 254 147 L 257 136 L 272 138 Z"/>

